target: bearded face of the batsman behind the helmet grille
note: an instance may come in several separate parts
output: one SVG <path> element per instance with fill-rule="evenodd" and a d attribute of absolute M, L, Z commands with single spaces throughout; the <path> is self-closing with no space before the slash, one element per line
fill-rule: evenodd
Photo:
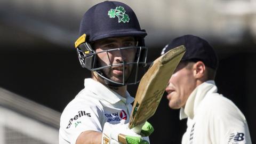
<path fill-rule="evenodd" d="M 135 46 L 137 42 L 134 37 L 113 37 L 101 39 L 94 43 L 95 51 L 98 53 L 98 65 L 108 66 L 116 65 L 120 63 L 133 62 L 135 59 L 136 49 L 123 49 L 115 51 L 107 51 L 111 49 L 117 49 L 121 47 L 132 47 Z M 125 81 L 130 76 L 132 71 L 132 65 L 118 65 L 103 68 L 103 73 L 112 81 L 123 83 L 123 75 Z"/>

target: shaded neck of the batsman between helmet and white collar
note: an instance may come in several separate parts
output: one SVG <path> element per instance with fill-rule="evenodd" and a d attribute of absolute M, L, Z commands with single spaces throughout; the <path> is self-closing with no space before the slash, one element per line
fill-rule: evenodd
<path fill-rule="evenodd" d="M 109 89 L 115 91 L 116 93 L 118 93 L 118 94 L 121 95 L 122 97 L 126 98 L 126 90 L 127 90 L 127 86 L 126 86 L 126 85 L 124 85 L 124 86 L 118 86 L 118 87 L 117 87 L 117 86 L 110 86 L 110 85 L 107 85 L 107 84 L 104 82 L 104 80 L 103 80 L 101 77 L 99 77 L 99 76 L 97 75 L 97 73 L 92 73 L 92 79 L 93 79 L 94 81 L 100 82 L 101 84 L 103 84 L 103 85 L 109 87 Z"/>

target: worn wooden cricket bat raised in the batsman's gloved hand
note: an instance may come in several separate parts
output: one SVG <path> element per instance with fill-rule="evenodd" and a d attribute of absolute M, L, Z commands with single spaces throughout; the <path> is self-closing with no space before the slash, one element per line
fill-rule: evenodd
<path fill-rule="evenodd" d="M 161 57 L 157 58 L 153 65 L 143 75 L 133 103 L 129 128 L 143 124 L 153 116 L 164 94 L 165 88 L 175 68 L 179 64 L 186 48 L 181 45 Z M 126 144 L 125 135 L 118 135 L 119 142 Z"/>

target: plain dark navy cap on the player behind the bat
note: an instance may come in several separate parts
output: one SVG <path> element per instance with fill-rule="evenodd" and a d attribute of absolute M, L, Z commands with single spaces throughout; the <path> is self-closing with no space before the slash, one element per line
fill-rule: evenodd
<path fill-rule="evenodd" d="M 203 61 L 207 67 L 215 70 L 218 68 L 218 57 L 213 47 L 205 39 L 194 35 L 184 35 L 174 38 L 173 41 L 164 47 L 161 54 L 180 45 L 186 47 L 186 52 L 181 61 Z"/>

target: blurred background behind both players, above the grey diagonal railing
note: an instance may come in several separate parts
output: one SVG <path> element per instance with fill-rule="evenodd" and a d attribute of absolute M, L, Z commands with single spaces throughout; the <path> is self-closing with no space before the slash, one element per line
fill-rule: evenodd
<path fill-rule="evenodd" d="M 101 1 L 1 1 L 0 87 L 59 111 L 83 89 L 90 72 L 81 68 L 74 42 L 84 12 Z M 219 57 L 219 93 L 243 112 L 256 142 L 256 2 L 122 1 L 147 30 L 148 61 L 174 37 L 194 34 L 209 41 Z M 146 6 L 145 6 L 146 5 Z M 137 86 L 130 86 L 135 95 Z M 149 119 L 151 143 L 180 143 L 186 120 L 168 107 L 166 94 Z"/>

